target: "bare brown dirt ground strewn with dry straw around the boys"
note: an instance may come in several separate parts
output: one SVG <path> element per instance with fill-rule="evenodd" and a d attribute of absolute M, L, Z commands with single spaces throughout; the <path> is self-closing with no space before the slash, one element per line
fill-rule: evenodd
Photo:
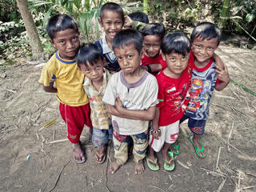
<path fill-rule="evenodd" d="M 256 51 L 219 46 L 230 77 L 256 90 Z M 0 66 L 0 191 L 256 191 L 256 97 L 230 83 L 214 92 L 202 143 L 207 157 L 199 159 L 190 143 L 186 122 L 181 125 L 181 154 L 168 173 L 146 170 L 134 174 L 129 158 L 114 175 L 107 172 L 114 150 L 102 165 L 87 130 L 82 145 L 87 161 L 73 160 L 65 124 L 54 94 L 38 84 L 42 64 Z M 56 119 L 52 125 L 44 127 Z"/>

